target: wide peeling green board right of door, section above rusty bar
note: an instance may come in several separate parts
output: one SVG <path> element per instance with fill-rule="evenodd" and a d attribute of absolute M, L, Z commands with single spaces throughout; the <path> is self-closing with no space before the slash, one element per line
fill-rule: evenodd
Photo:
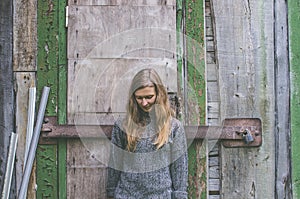
<path fill-rule="evenodd" d="M 188 92 L 188 98 L 193 103 L 196 96 L 197 113 L 188 118 L 190 124 L 205 124 L 205 47 L 204 47 L 204 8 L 203 0 L 186 1 L 186 36 L 187 36 L 187 66 L 188 85 L 193 92 Z M 195 96 L 193 96 L 195 95 Z M 191 110 L 195 109 L 191 106 Z"/>

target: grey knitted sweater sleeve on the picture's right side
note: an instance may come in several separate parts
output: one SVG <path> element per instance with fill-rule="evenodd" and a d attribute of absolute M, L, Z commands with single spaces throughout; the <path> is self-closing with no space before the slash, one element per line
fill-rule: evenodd
<path fill-rule="evenodd" d="M 188 186 L 188 156 L 187 143 L 184 128 L 178 123 L 172 132 L 172 164 L 170 165 L 171 179 L 173 185 L 172 199 L 186 199 Z"/>

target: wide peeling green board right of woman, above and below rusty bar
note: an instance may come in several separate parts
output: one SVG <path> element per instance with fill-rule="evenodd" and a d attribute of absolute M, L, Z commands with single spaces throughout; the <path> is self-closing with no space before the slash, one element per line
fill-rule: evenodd
<path fill-rule="evenodd" d="M 187 0 L 185 5 L 187 35 L 187 69 L 190 125 L 205 124 L 205 61 L 204 61 L 204 10 L 203 1 Z M 196 100 L 195 100 L 196 99 Z M 196 101 L 196 103 L 195 103 Z M 193 112 L 192 110 L 195 110 Z M 201 154 L 203 141 L 194 141 L 189 147 L 189 198 L 206 198 L 206 158 Z"/>

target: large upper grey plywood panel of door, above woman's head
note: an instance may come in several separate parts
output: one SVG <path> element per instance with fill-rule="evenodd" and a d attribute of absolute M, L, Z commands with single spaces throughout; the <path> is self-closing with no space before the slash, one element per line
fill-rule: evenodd
<path fill-rule="evenodd" d="M 176 54 L 173 6 L 70 6 L 68 58 Z"/>

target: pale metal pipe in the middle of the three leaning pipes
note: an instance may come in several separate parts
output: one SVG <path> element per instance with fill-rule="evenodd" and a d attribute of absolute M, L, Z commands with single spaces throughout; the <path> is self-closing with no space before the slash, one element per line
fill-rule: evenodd
<path fill-rule="evenodd" d="M 36 88 L 30 87 L 29 88 L 29 104 L 28 104 L 28 121 L 27 121 L 27 131 L 26 131 L 26 148 L 25 148 L 25 157 L 24 157 L 24 165 L 26 165 L 29 147 L 32 139 L 33 134 L 33 127 L 34 127 L 34 111 L 35 111 L 35 97 Z"/>

